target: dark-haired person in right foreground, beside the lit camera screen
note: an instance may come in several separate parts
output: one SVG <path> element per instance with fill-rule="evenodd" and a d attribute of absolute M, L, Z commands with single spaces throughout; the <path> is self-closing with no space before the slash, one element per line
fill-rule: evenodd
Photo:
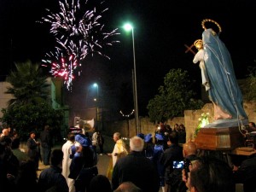
<path fill-rule="evenodd" d="M 205 155 L 191 162 L 189 177 L 183 174 L 183 179 L 190 192 L 235 192 L 232 174 L 232 169 L 224 160 Z"/>

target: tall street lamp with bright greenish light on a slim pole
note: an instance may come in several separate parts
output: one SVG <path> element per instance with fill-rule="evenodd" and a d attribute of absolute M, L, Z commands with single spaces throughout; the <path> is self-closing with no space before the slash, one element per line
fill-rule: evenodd
<path fill-rule="evenodd" d="M 126 23 L 125 31 L 131 31 L 132 35 L 132 48 L 133 48 L 133 71 L 134 71 L 134 106 L 135 106 L 135 116 L 136 116 L 136 130 L 139 132 L 139 120 L 138 120 L 138 108 L 137 108 L 137 74 L 136 74 L 136 59 L 135 59 L 135 46 L 134 46 L 134 30 L 130 23 Z"/>

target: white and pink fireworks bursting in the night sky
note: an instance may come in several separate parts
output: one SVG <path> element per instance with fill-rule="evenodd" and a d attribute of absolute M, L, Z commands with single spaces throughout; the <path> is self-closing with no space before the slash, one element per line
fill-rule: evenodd
<path fill-rule="evenodd" d="M 47 60 L 43 60 L 43 62 L 51 65 L 50 73 L 65 79 L 67 89 L 69 89 L 74 78 L 73 70 L 81 68 L 74 67 L 74 63 L 80 63 L 86 55 L 93 55 L 93 53 L 110 59 L 108 55 L 102 54 L 101 49 L 104 46 L 119 43 L 119 41 L 114 40 L 108 41 L 109 38 L 119 33 L 117 28 L 111 32 L 104 32 L 103 30 L 104 25 L 100 23 L 101 14 L 108 9 L 103 9 L 98 14 L 96 8 L 88 8 L 87 0 L 84 0 L 83 4 L 79 0 L 71 0 L 71 3 L 64 0 L 64 3 L 59 1 L 59 5 L 59 13 L 52 13 L 46 9 L 48 15 L 42 18 L 44 22 L 50 24 L 49 32 L 54 35 L 58 44 L 55 53 L 46 54 Z M 69 59 L 56 62 L 60 58 Z"/>

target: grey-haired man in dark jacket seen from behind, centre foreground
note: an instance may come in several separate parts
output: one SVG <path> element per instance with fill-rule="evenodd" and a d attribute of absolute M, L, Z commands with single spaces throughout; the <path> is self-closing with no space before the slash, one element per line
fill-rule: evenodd
<path fill-rule="evenodd" d="M 130 181 L 143 191 L 159 191 L 159 174 L 152 161 L 142 153 L 143 147 L 144 141 L 141 137 L 131 138 L 131 153 L 120 158 L 113 167 L 113 190 L 117 189 L 119 184 Z"/>

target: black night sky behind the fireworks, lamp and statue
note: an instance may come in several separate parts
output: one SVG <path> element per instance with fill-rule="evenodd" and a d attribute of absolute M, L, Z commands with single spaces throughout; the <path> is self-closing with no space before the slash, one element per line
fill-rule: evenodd
<path fill-rule="evenodd" d="M 184 44 L 191 45 L 201 38 L 203 19 L 216 20 L 222 26 L 220 38 L 230 50 L 237 79 L 247 76 L 248 66 L 255 66 L 256 3 L 253 0 L 107 0 L 104 5 L 108 11 L 102 15 L 102 22 L 109 29 L 119 28 L 120 43 L 104 49 L 110 61 L 97 55 L 84 60 L 81 76 L 74 80 L 73 91 L 68 93 L 68 98 L 76 98 L 75 106 L 79 106 L 84 91 L 88 95 L 93 82 L 99 82 L 105 92 L 117 89 L 123 96 L 125 89 L 131 88 L 131 34 L 122 29 L 128 20 L 134 25 L 137 92 L 143 115 L 148 100 L 158 93 L 158 87 L 172 68 L 189 71 L 200 88 L 200 69 L 192 62 L 194 55 L 185 53 Z M 57 7 L 56 0 L 0 0 L 1 79 L 14 67 L 13 61 L 41 61 L 54 46 L 49 28 L 36 20 L 41 20 L 44 9 Z M 124 99 L 124 103 L 132 105 L 131 93 Z"/>

